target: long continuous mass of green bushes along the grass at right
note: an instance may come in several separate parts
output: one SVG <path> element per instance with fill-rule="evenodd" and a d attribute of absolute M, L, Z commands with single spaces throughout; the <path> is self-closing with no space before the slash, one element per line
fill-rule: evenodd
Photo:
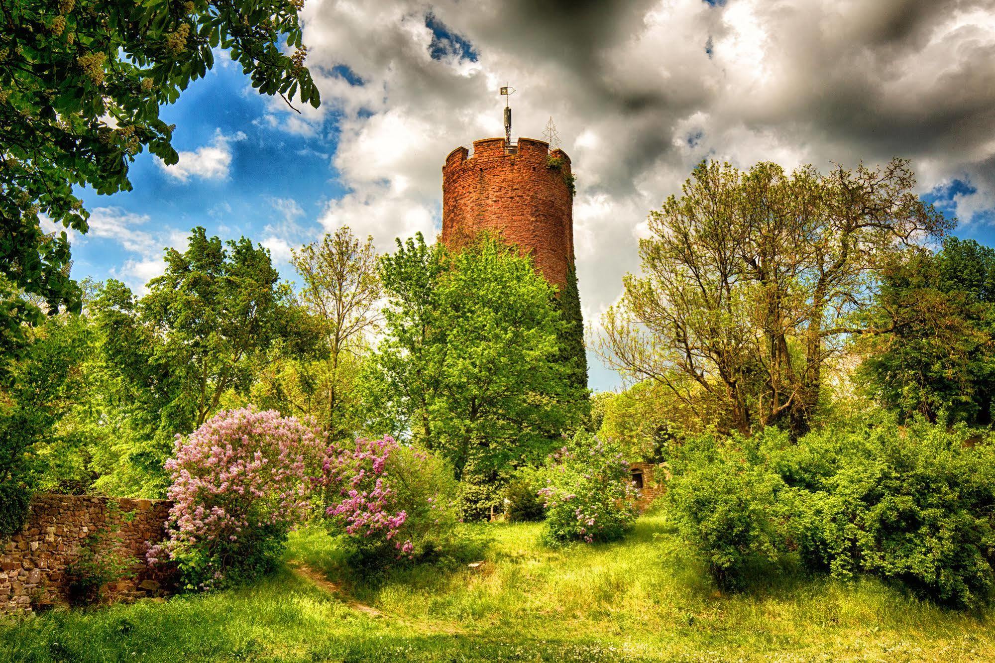
<path fill-rule="evenodd" d="M 995 443 L 968 430 L 894 419 L 836 426 L 797 444 L 686 445 L 667 502 L 716 580 L 795 552 L 810 570 L 870 573 L 970 606 L 995 586 Z"/>

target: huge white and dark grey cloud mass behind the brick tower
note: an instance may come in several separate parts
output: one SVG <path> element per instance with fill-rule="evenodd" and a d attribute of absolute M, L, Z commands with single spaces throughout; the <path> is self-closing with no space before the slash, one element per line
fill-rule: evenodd
<path fill-rule="evenodd" d="M 322 107 L 275 103 L 266 121 L 334 127 L 350 192 L 319 221 L 383 247 L 438 227 L 443 159 L 501 133 L 498 86 L 518 91 L 514 134 L 553 115 L 578 175 L 588 320 L 638 269 L 648 211 L 702 158 L 907 156 L 962 222 L 995 207 L 990 0 L 337 0 L 305 6 L 304 41 Z"/>

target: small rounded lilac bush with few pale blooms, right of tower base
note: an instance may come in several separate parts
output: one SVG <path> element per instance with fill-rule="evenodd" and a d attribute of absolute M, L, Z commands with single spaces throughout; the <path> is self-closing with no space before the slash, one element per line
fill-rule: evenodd
<path fill-rule="evenodd" d="M 536 474 L 551 544 L 621 539 L 636 520 L 629 464 L 610 442 L 579 432 Z"/>

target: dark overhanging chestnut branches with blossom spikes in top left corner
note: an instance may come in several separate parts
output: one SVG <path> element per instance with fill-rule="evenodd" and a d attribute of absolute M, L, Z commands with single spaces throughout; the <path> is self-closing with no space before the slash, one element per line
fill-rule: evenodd
<path fill-rule="evenodd" d="M 301 4 L 0 0 L 0 275 L 10 286 L 50 310 L 80 310 L 67 235 L 46 233 L 40 220 L 85 233 L 89 214 L 74 186 L 130 190 L 128 163 L 146 147 L 175 163 L 173 126 L 159 107 L 213 67 L 214 49 L 260 93 L 316 107 Z M 0 307 L 0 327 L 39 316 L 18 298 Z"/>

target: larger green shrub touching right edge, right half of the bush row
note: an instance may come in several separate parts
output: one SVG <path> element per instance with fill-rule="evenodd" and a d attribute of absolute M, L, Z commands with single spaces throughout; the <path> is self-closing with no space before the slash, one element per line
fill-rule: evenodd
<path fill-rule="evenodd" d="M 782 510 L 811 566 L 868 572 L 958 606 L 995 585 L 995 445 L 918 420 L 810 433 L 775 453 L 794 471 Z M 816 461 L 812 449 L 829 453 Z"/>

